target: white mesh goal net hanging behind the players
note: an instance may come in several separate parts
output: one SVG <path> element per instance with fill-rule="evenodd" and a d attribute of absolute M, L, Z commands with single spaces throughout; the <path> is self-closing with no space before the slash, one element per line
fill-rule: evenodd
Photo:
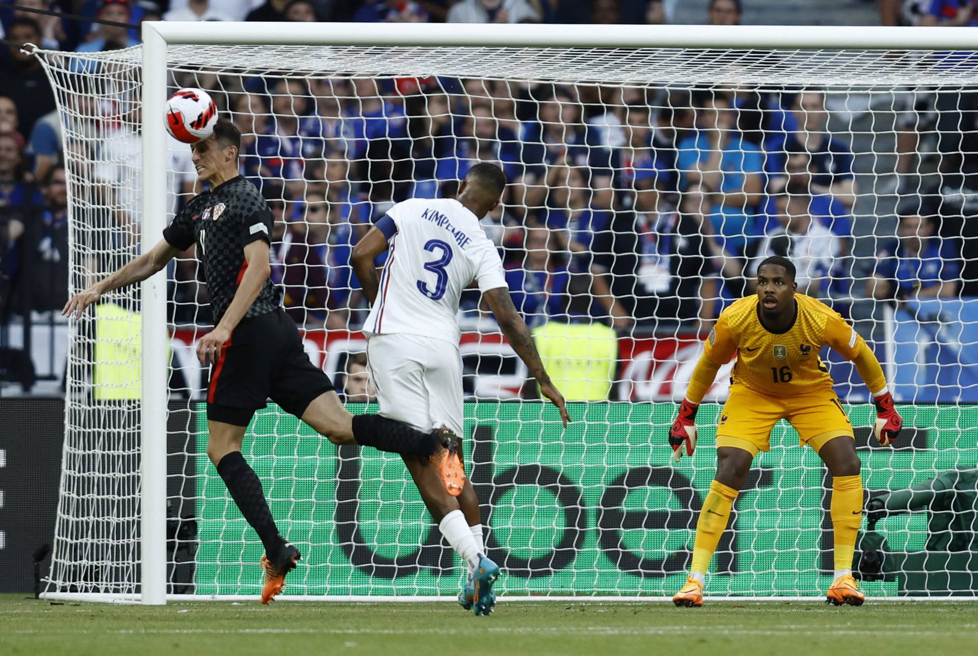
<path fill-rule="evenodd" d="M 234 40 L 234 25 L 209 29 L 225 30 L 215 43 Z M 763 46 L 770 32 L 758 34 Z M 799 291 L 853 323 L 902 404 L 899 442 L 878 448 L 865 385 L 822 351 L 863 459 L 863 589 L 978 593 L 978 55 L 832 49 L 827 31 L 822 50 L 381 37 L 169 44 L 167 93 L 205 89 L 242 129 L 241 172 L 275 215 L 273 279 L 354 413 L 376 406 L 351 246 L 393 202 L 451 197 L 474 162 L 502 165 L 510 185 L 482 225 L 575 402 L 563 430 L 467 292 L 466 461 L 488 554 L 506 572 L 502 594 L 656 597 L 682 586 L 732 365 L 698 414 L 694 457 L 670 461 L 668 426 L 713 320 L 753 292 L 770 254 L 791 257 Z M 37 52 L 62 118 L 72 293 L 159 239 L 199 191 L 185 145 L 167 142 L 144 166 L 144 142 L 164 143 L 162 116 L 143 111 L 144 54 Z M 163 177 L 166 219 L 151 221 L 144 190 Z M 151 303 L 162 315 L 136 286 L 70 323 L 50 596 L 138 598 L 151 558 L 141 467 L 165 471 L 165 550 L 153 558 L 165 558 L 167 595 L 260 591 L 261 544 L 205 455 L 207 371 L 195 346 L 212 317 L 193 248 L 166 270 L 165 291 L 164 344 L 141 328 Z M 161 359 L 165 384 L 144 392 L 144 368 Z M 151 402 L 165 406 L 165 432 L 141 419 Z M 141 464 L 148 429 L 164 436 L 165 458 Z M 286 596 L 434 598 L 463 586 L 465 567 L 397 457 L 336 448 L 273 405 L 248 427 L 244 457 L 303 553 Z M 818 456 L 778 422 L 707 593 L 822 594 L 830 491 Z"/>

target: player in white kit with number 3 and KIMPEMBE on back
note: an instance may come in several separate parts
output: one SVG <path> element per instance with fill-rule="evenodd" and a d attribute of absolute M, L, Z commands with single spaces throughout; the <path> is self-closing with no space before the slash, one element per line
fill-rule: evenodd
<path fill-rule="evenodd" d="M 488 162 L 468 171 L 456 198 L 399 202 L 353 248 L 352 263 L 372 307 L 364 331 L 367 359 L 377 390 L 379 414 L 418 428 L 463 430 L 462 358 L 456 315 L 459 298 L 473 280 L 500 329 L 540 385 L 541 393 L 569 417 L 563 397 L 540 362 L 529 328 L 516 312 L 496 246 L 479 219 L 500 202 L 503 170 Z M 378 279 L 374 262 L 390 250 Z M 431 463 L 404 461 L 441 534 L 462 556 L 468 585 L 459 603 L 475 615 L 492 612 L 492 584 L 499 567 L 485 557 L 479 502 L 465 478 L 438 484 Z"/>

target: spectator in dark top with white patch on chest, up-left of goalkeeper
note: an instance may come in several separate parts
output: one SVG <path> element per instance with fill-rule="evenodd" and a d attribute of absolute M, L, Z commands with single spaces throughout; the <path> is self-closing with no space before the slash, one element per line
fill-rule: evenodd
<path fill-rule="evenodd" d="M 638 170 L 635 188 L 635 210 L 622 212 L 612 224 L 612 293 L 625 299 L 643 331 L 674 334 L 684 322 L 708 332 L 719 287 L 703 215 L 677 210 L 668 200 L 669 176 L 663 171 Z"/>

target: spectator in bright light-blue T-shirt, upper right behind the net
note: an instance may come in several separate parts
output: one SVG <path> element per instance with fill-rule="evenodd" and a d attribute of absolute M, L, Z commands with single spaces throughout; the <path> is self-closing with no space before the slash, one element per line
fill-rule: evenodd
<path fill-rule="evenodd" d="M 697 111 L 695 134 L 679 145 L 680 188 L 698 185 L 714 195 L 713 213 L 721 206 L 752 213 L 762 199 L 764 153 L 744 139 L 738 125 L 740 111 L 731 108 L 726 95 L 711 93 L 703 106 Z"/>

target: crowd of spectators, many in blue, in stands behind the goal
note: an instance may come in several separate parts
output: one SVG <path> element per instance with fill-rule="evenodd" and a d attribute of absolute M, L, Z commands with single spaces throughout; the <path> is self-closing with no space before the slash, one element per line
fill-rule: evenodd
<path fill-rule="evenodd" d="M 660 0 L 19 0 L 108 22 L 666 22 Z M 168 6 L 166 6 L 168 4 Z M 891 4 L 881 3 L 884 20 Z M 921 24 L 978 24 L 978 3 L 917 3 Z M 967 14 L 965 16 L 965 14 Z M 737 24 L 739 0 L 712 0 L 706 22 Z M 895 17 L 895 18 L 893 18 Z M 80 53 L 139 43 L 138 26 L 0 10 L 5 37 Z M 482 219 L 531 326 L 603 322 L 619 331 L 708 331 L 723 306 L 751 290 L 769 254 L 797 264 L 799 290 L 845 312 L 854 298 L 962 293 L 960 233 L 934 202 L 901 203 L 896 236 L 878 258 L 853 257 L 855 156 L 829 130 L 818 88 L 681 89 L 526 84 L 459 78 L 285 78 L 177 74 L 210 91 L 244 133 L 242 174 L 275 215 L 273 278 L 295 320 L 358 327 L 366 299 L 352 246 L 393 202 L 451 197 L 477 161 L 499 162 L 504 203 Z M 909 144 L 894 170 L 901 189 L 926 112 L 898 125 Z M 933 112 L 932 112 L 933 113 Z M 963 124 L 958 111 L 958 131 Z M 0 67 L 0 311 L 61 307 L 67 296 L 65 149 L 55 99 L 31 55 L 9 46 Z M 961 153 L 960 139 L 948 145 Z M 965 151 L 966 153 L 966 151 Z M 173 155 L 171 211 L 195 192 L 189 153 Z M 964 155 L 965 159 L 968 156 Z M 943 163 L 943 162 L 942 162 Z M 958 161 L 958 169 L 974 162 Z M 902 168 L 901 168 L 902 167 Z M 976 167 L 978 168 L 978 167 Z M 907 174 L 901 176 L 900 174 Z M 919 185 L 917 185 L 919 188 Z M 878 191 L 878 190 L 877 190 Z M 865 234 L 866 231 L 863 231 Z M 884 237 L 893 239 L 882 239 Z M 877 261 L 878 260 L 878 261 Z M 26 266 L 25 266 L 26 265 Z M 35 286 L 18 294 L 26 272 Z M 171 317 L 205 324 L 206 288 L 193 258 L 170 271 Z M 48 282 L 48 278 L 53 282 Z M 475 291 L 464 310 L 480 314 Z"/>

